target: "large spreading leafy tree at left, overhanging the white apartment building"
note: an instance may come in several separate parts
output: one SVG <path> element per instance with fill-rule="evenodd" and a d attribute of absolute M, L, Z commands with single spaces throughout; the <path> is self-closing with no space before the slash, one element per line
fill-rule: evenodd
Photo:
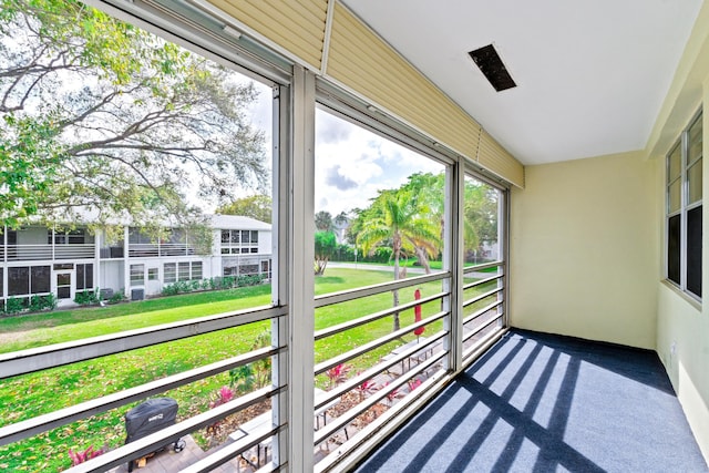
<path fill-rule="evenodd" d="M 74 0 L 0 0 L 1 224 L 194 220 L 265 183 L 253 83 Z"/>

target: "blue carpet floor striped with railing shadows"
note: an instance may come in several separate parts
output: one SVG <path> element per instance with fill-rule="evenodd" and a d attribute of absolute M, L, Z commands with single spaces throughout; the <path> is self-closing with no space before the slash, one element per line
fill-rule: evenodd
<path fill-rule="evenodd" d="M 357 471 L 709 469 L 655 352 L 512 330 Z"/>

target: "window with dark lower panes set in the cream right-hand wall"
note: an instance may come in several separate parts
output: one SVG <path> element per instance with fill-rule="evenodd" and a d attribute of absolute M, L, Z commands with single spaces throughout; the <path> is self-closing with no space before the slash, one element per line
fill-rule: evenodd
<path fill-rule="evenodd" d="M 667 279 L 701 298 L 702 114 L 667 155 Z"/>

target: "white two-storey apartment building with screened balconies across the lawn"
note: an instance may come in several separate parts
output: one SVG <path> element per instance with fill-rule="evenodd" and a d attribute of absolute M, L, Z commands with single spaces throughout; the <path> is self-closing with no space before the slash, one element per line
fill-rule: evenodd
<path fill-rule="evenodd" d="M 60 307 L 76 292 L 100 288 L 104 297 L 123 292 L 131 299 L 161 294 L 176 281 L 222 276 L 270 278 L 270 225 L 249 217 L 214 215 L 210 245 L 189 232 L 171 228 L 156 239 L 124 227 L 123 238 L 92 234 L 86 223 L 73 229 L 28 226 L 6 228 L 0 246 L 0 302 L 53 294 Z"/>

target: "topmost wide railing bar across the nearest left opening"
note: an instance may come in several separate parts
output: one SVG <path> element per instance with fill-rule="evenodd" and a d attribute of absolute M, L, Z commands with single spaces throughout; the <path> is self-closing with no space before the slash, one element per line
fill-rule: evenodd
<path fill-rule="evenodd" d="M 285 316 L 287 307 L 219 313 L 0 354 L 0 379 Z"/>

